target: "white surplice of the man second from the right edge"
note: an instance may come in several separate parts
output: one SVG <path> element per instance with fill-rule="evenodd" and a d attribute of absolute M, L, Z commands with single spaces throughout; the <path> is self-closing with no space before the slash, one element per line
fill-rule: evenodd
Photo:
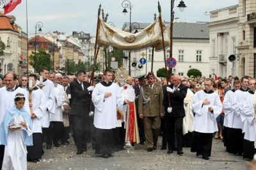
<path fill-rule="evenodd" d="M 244 104 L 244 94 L 246 93 L 247 91 L 242 91 L 241 89 L 237 89 L 237 91 L 235 91 L 234 93 L 234 98 L 233 98 L 233 105 L 232 105 L 232 109 L 234 111 L 234 114 L 236 114 L 236 116 L 238 116 L 240 118 L 240 121 L 241 121 L 241 129 L 244 133 L 244 128 L 245 128 L 245 123 L 246 123 L 246 118 L 245 116 L 243 115 L 242 113 L 242 109 L 243 109 L 243 104 Z M 235 117 L 236 119 L 236 117 Z M 239 121 L 239 120 L 237 120 Z"/>

